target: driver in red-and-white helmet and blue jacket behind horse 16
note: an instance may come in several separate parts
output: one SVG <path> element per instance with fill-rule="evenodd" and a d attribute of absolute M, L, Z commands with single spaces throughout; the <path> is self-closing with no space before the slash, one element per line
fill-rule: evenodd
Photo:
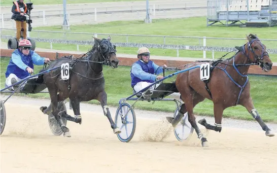
<path fill-rule="evenodd" d="M 5 87 L 11 86 L 30 76 L 33 73 L 33 64 L 43 65 L 44 62 L 50 61 L 49 58 L 41 57 L 36 52 L 30 50 L 31 42 L 27 39 L 21 40 L 18 47 L 12 53 L 12 58 L 7 67 Z"/>

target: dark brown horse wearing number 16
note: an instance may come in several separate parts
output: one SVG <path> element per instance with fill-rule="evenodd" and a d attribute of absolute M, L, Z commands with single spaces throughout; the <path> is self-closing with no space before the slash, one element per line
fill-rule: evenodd
<path fill-rule="evenodd" d="M 49 114 L 52 110 L 64 136 L 70 137 L 71 134 L 60 116 L 64 116 L 67 120 L 81 124 L 80 102 L 92 99 L 100 101 L 103 112 L 108 117 L 114 133 L 121 132 L 116 127 L 107 106 L 107 93 L 105 92 L 105 80 L 102 73 L 103 64 L 108 63 L 109 66 L 116 68 L 119 62 L 116 56 L 116 48 L 110 40 L 110 37 L 108 40 L 94 38 L 92 50 L 83 57 L 79 59 L 62 57 L 53 61 L 47 67 L 47 69 L 50 69 L 60 66 L 63 63 L 70 64 L 70 78 L 68 80 L 61 80 L 60 68 L 58 68 L 59 70 L 51 71 L 44 75 L 43 79 L 49 90 L 51 103 L 49 107 L 40 108 L 44 114 Z M 66 98 L 70 98 L 75 117 L 67 115 L 65 111 L 58 112 L 58 103 Z"/>

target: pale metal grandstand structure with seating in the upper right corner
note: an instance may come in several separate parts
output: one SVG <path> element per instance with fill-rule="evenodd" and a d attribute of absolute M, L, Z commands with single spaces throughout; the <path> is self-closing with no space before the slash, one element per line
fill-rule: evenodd
<path fill-rule="evenodd" d="M 277 0 L 207 0 L 207 26 L 277 25 Z"/>

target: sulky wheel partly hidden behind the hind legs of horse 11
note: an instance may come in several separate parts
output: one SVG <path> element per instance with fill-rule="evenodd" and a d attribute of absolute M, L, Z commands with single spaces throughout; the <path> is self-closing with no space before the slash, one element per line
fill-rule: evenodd
<path fill-rule="evenodd" d="M 177 116 L 178 113 L 179 113 L 179 110 L 178 108 L 176 108 L 174 113 L 174 118 Z M 181 121 L 175 127 L 174 134 L 178 141 L 184 141 L 184 140 L 189 140 L 192 133 L 193 133 L 193 127 L 191 126 L 188 120 L 188 113 L 186 113 L 184 117 L 181 119 Z"/>

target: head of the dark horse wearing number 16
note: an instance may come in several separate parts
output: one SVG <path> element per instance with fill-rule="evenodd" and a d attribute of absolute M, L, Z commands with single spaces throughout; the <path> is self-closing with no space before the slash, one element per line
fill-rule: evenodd
<path fill-rule="evenodd" d="M 117 68 L 119 60 L 116 56 L 116 46 L 111 43 L 111 37 L 102 40 L 94 38 L 94 45 L 97 46 L 103 60 L 109 63 L 109 66 Z"/>

